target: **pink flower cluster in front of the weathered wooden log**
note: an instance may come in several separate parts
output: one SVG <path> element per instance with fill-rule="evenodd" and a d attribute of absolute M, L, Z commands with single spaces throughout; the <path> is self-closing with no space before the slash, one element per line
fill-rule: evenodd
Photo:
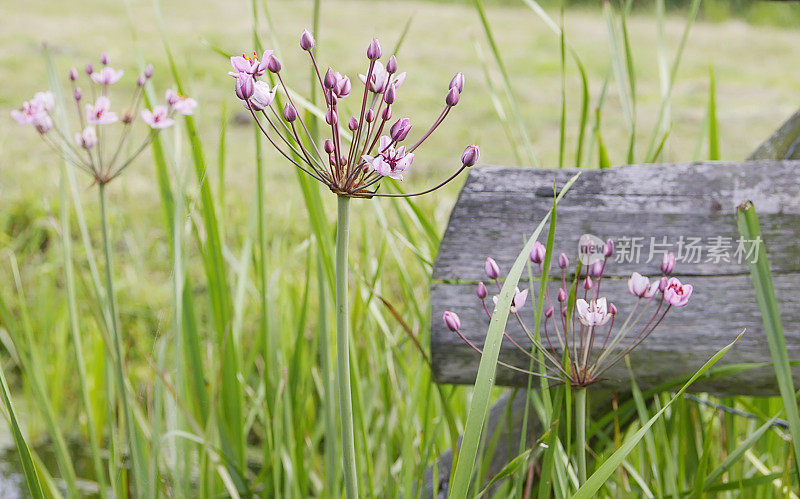
<path fill-rule="evenodd" d="M 551 300 L 549 289 L 545 288 L 545 319 L 541 339 L 537 339 L 522 321 L 519 311 L 525 305 L 528 290 L 520 291 L 517 288 L 509 313 L 516 318 L 535 350 L 542 353 L 544 362 L 539 365 L 544 367 L 544 374 L 541 371 L 529 372 L 503 362 L 500 364 L 527 374 L 568 381 L 573 386 L 587 386 L 600 381 L 603 372 L 644 341 L 672 307 L 683 307 L 689 302 L 692 285 L 682 284 L 678 278 L 669 276 L 675 268 L 675 255 L 668 253 L 661 262 L 660 278 L 651 281 L 638 272 L 630 276 L 628 290 L 637 297 L 637 301 L 628 317 L 621 321 L 622 325 L 615 329 L 615 324 L 620 322 L 616 320 L 617 307 L 600 295 L 606 264 L 613 254 L 614 242 L 609 239 L 603 246 L 603 258 L 586 266 L 585 275 L 579 265 L 571 282 L 567 280 L 569 258 L 564 253 L 559 255 L 561 283 L 555 303 Z M 536 241 L 530 260 L 538 266 L 540 272 L 544 267 L 545 256 L 544 245 Z M 484 271 L 500 290 L 500 268 L 497 262 L 487 258 Z M 491 318 L 492 312 L 486 305 L 488 290 L 483 282 L 478 283 L 476 294 L 486 315 Z M 496 306 L 497 296 L 494 297 L 494 303 Z M 648 314 L 648 311 L 652 313 Z M 443 319 L 445 325 L 472 349 L 483 353 L 462 334 L 461 320 L 456 313 L 447 311 Z M 522 347 L 508 333 L 503 334 L 535 363 L 542 362 L 535 351 Z"/>

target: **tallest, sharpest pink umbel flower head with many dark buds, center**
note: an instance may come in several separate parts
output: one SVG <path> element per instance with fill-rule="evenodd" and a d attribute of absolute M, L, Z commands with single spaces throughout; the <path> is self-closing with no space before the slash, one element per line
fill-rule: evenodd
<path fill-rule="evenodd" d="M 480 155 L 478 146 L 468 146 L 461 158 L 461 168 L 433 188 L 413 194 L 378 193 L 381 180 L 388 177 L 403 180 L 414 163 L 415 151 L 444 121 L 458 103 L 464 90 L 464 75 L 453 77 L 445 94 L 444 107 L 438 118 L 418 140 L 406 144 L 411 129 L 407 117 L 393 118 L 399 88 L 406 73 L 398 73 L 397 58 L 392 55 L 384 65 L 383 51 L 377 39 L 366 50 L 368 61 L 365 74 L 359 74 L 363 89 L 353 92 L 350 77 L 333 68 L 321 70 L 314 57 L 314 37 L 307 30 L 300 36 L 300 48 L 309 55 L 325 103 L 326 138 L 315 142 L 292 92 L 282 76 L 282 65 L 272 50 L 260 56 L 231 57 L 236 96 L 250 111 L 256 124 L 275 149 L 294 166 L 345 197 L 417 196 L 426 194 L 453 180 L 465 168 L 474 165 Z M 271 73 L 272 86 L 262 80 Z M 286 105 L 281 110 L 276 102 L 278 87 L 283 91 Z M 358 94 L 356 106 L 345 105 L 345 99 Z M 356 112 L 348 115 L 347 109 Z"/>

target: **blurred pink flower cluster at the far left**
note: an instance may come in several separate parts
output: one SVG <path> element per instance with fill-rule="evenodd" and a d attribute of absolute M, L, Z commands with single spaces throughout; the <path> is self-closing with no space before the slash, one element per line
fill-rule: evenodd
<path fill-rule="evenodd" d="M 48 146 L 91 175 L 95 182 L 106 184 L 119 176 L 144 151 L 159 130 L 172 126 L 176 114 L 192 114 L 197 102 L 168 90 L 166 105 L 141 109 L 139 113 L 145 83 L 153 76 L 153 67 L 148 65 L 136 81 L 136 89 L 129 100 L 129 106 L 121 109 L 118 114 L 112 111 L 109 94 L 110 87 L 122 78 L 123 71 L 108 65 L 109 59 L 105 52 L 100 54 L 100 64 L 99 69 L 91 63 L 85 67 L 88 95 L 78 86 L 78 70 L 73 68 L 69 72 L 72 100 L 79 126 L 79 131 L 74 135 L 59 127 L 54 119 L 55 99 L 51 92 L 36 93 L 19 109 L 11 111 L 11 116 L 21 125 L 33 126 Z M 84 103 L 87 99 L 90 102 Z M 150 128 L 150 133 L 138 147 L 128 149 L 127 142 L 137 114 L 141 115 L 142 121 Z M 126 155 L 123 150 L 133 152 Z"/>

